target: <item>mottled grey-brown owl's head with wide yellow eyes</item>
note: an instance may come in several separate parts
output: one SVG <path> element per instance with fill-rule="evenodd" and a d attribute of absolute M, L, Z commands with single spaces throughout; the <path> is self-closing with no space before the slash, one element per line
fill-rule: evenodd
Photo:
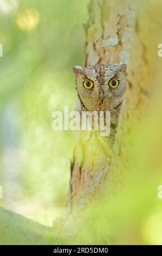
<path fill-rule="evenodd" d="M 79 100 L 88 111 L 111 111 L 122 102 L 126 64 L 74 66 Z"/>

